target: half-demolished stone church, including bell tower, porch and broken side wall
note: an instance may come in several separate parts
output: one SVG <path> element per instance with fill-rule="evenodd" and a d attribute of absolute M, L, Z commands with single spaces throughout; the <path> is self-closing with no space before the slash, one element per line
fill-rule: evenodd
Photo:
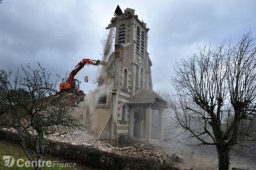
<path fill-rule="evenodd" d="M 123 13 L 117 6 L 115 14 L 107 27 L 115 30 L 115 51 L 99 77 L 99 88 L 104 86 L 105 92 L 96 108 L 87 111 L 86 119 L 92 130 L 102 139 L 109 139 L 111 145 L 117 145 L 121 135 L 150 144 L 152 110 L 158 111 L 162 139 L 166 101 L 152 90 L 152 63 L 147 52 L 149 29 L 133 9 L 127 8 Z M 95 125 L 97 120 L 100 123 Z"/>

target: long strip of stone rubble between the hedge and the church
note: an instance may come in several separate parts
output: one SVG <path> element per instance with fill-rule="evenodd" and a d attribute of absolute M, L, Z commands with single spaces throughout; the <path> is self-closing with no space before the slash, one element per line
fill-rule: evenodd
<path fill-rule="evenodd" d="M 3 129 L 7 131 L 14 131 L 14 129 Z M 174 165 L 175 163 L 181 163 L 183 161 L 183 157 L 179 156 L 176 153 L 173 153 L 172 156 L 170 156 L 163 152 L 146 149 L 144 145 L 140 143 L 135 143 L 129 147 L 112 147 L 110 144 L 102 142 L 85 132 L 75 131 L 65 134 L 54 133 L 47 136 L 45 135 L 45 139 L 63 143 L 70 143 L 73 145 L 81 145 L 83 147 L 92 147 L 101 151 L 115 152 L 119 155 L 140 158 L 152 158 L 158 161 L 159 164 Z"/>

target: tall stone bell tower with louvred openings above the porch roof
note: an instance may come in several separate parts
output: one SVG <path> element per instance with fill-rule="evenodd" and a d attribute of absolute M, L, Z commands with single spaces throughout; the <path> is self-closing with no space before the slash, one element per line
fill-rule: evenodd
<path fill-rule="evenodd" d="M 133 9 L 127 8 L 123 13 L 117 6 L 115 15 L 108 28 L 116 29 L 115 52 L 122 68 L 119 72 L 119 87 L 131 93 L 132 97 L 139 89 L 152 89 L 152 63 L 147 52 L 149 29 L 146 23 L 138 19 Z"/>

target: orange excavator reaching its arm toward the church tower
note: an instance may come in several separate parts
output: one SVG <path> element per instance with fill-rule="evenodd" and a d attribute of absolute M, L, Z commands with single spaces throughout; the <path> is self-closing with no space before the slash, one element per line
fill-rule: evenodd
<path fill-rule="evenodd" d="M 60 92 L 63 91 L 79 91 L 79 81 L 75 79 L 75 75 L 79 72 L 85 65 L 94 65 L 99 66 L 100 60 L 91 60 L 91 59 L 83 59 L 80 61 L 75 67 L 74 70 L 70 72 L 69 78 L 66 82 L 60 83 Z"/>

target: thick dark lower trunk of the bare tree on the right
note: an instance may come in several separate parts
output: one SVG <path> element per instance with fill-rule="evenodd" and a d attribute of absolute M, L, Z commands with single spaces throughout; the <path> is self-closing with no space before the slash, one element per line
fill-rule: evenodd
<path fill-rule="evenodd" d="M 219 159 L 219 170 L 228 170 L 230 164 L 230 149 L 226 145 L 217 147 L 218 159 Z"/>

